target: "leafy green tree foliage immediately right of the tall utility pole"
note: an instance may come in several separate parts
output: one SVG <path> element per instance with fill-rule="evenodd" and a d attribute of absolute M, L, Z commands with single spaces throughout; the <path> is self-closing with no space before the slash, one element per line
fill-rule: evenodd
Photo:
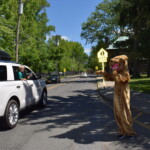
<path fill-rule="evenodd" d="M 45 65 L 49 64 L 47 62 L 46 35 L 50 34 L 50 31 L 54 31 L 53 26 L 47 25 L 45 7 L 49 7 L 46 0 L 40 2 L 25 0 L 20 29 L 20 62 L 31 66 L 38 72 L 44 71 L 47 68 Z"/>

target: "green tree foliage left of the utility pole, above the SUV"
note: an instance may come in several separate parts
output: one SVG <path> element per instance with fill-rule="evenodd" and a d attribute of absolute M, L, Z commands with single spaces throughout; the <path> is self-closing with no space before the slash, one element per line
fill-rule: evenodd
<path fill-rule="evenodd" d="M 0 49 L 14 58 L 17 1 L 1 0 L 0 6 Z"/>

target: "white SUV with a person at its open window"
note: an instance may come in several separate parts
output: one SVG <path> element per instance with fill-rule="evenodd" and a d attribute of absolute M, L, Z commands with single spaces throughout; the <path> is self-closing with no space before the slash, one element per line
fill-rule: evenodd
<path fill-rule="evenodd" d="M 17 72 L 20 64 L 0 61 L 0 117 L 6 128 L 14 128 L 20 110 L 37 103 L 47 105 L 47 89 L 44 80 L 25 66 L 25 75 L 32 74 L 29 80 L 19 80 Z"/>

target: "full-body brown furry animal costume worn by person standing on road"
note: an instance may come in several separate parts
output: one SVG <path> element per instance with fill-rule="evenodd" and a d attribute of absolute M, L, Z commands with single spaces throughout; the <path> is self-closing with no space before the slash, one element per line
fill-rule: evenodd
<path fill-rule="evenodd" d="M 134 136 L 135 132 L 132 129 L 132 115 L 130 111 L 130 75 L 127 64 L 128 57 L 120 55 L 110 60 L 110 66 L 114 63 L 119 64 L 120 70 L 114 70 L 112 74 L 103 71 L 97 71 L 97 74 L 102 74 L 105 80 L 115 81 L 114 87 L 114 115 L 119 127 L 121 135 Z"/>

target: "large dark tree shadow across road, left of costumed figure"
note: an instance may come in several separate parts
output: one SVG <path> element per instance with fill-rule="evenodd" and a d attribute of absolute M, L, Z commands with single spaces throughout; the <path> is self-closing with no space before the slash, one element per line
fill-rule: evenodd
<path fill-rule="evenodd" d="M 96 99 L 93 90 L 75 91 L 75 93 L 79 93 L 79 95 L 69 96 L 68 98 L 49 97 L 48 107 L 36 115 L 30 114 L 22 124 L 28 124 L 28 121 L 36 120 L 30 124 L 47 125 L 47 128 L 38 132 L 50 131 L 52 128 L 67 129 L 75 126 L 66 133 L 55 136 L 55 138 L 69 138 L 77 143 L 88 144 L 95 141 L 116 140 L 112 110 Z M 38 121 L 41 118 L 46 119 Z"/>

